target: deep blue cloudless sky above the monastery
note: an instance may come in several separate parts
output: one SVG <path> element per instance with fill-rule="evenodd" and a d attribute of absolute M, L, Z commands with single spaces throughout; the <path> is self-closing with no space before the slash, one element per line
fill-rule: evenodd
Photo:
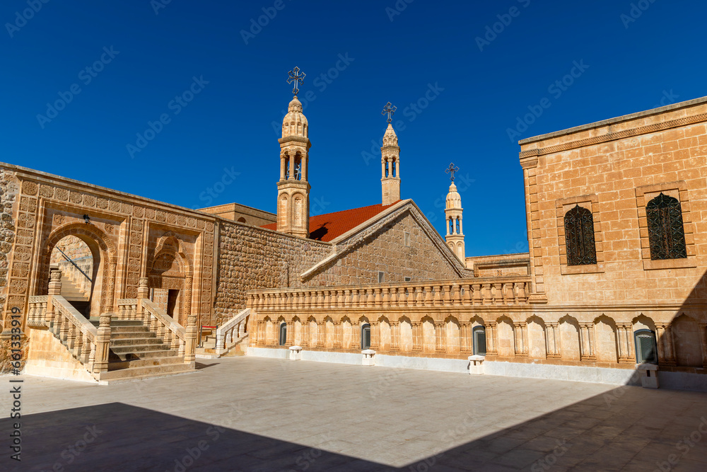
<path fill-rule="evenodd" d="M 402 197 L 442 234 L 459 166 L 467 255 L 527 251 L 518 139 L 706 94 L 698 1 L 43 1 L 0 6 L 0 161 L 274 212 L 298 66 L 312 214 L 380 202 L 390 101 Z"/>

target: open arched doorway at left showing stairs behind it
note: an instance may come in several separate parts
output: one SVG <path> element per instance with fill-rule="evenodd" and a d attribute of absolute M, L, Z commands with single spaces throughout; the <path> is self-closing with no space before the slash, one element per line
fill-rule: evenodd
<path fill-rule="evenodd" d="M 98 262 L 100 263 L 100 259 Z M 52 249 L 49 265 L 62 272 L 62 297 L 79 313 L 90 316 L 95 273 L 93 253 L 88 244 L 77 236 L 64 236 Z"/>

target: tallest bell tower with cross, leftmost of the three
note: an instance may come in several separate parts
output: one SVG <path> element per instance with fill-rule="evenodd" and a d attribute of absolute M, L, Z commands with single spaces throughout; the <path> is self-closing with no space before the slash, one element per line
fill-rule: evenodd
<path fill-rule="evenodd" d="M 312 146 L 307 118 L 297 98 L 305 74 L 295 67 L 289 72 L 294 98 L 282 121 L 280 143 L 280 180 L 277 183 L 277 231 L 307 238 L 309 236 L 309 149 Z"/>

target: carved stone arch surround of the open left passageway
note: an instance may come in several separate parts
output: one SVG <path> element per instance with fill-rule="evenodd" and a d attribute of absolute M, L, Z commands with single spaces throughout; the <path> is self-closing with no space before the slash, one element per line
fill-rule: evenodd
<path fill-rule="evenodd" d="M 57 243 L 66 236 L 75 236 L 81 239 L 81 241 L 86 243 L 93 256 L 93 288 L 90 297 L 90 316 L 100 316 L 101 313 L 114 311 L 117 251 L 115 250 L 115 243 L 110 237 L 93 224 L 64 224 L 47 236 L 36 272 L 35 287 L 37 287 L 37 294 L 47 294 L 52 251 L 54 251 Z M 98 301 L 98 304 L 95 301 Z"/>

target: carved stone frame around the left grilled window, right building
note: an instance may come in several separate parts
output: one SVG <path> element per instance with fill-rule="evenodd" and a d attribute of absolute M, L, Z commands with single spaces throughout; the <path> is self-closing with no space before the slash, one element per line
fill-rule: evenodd
<path fill-rule="evenodd" d="M 576 205 L 592 212 L 594 220 L 594 243 L 597 250 L 597 263 L 591 265 L 567 265 L 567 243 L 565 239 L 565 214 Z M 599 216 L 599 197 L 596 194 L 580 195 L 578 197 L 556 200 L 557 239 L 560 254 L 560 272 L 570 274 L 599 274 L 604 272 L 604 236 L 602 236 L 602 221 Z"/>

